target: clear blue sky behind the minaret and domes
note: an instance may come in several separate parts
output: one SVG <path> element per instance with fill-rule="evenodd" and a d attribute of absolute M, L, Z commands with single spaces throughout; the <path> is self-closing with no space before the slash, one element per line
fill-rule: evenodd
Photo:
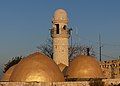
<path fill-rule="evenodd" d="M 101 34 L 103 54 L 120 55 L 120 0 L 1 0 L 0 65 L 15 56 L 26 56 L 49 37 L 54 11 L 68 12 L 73 40 L 90 44 L 98 52 Z"/>

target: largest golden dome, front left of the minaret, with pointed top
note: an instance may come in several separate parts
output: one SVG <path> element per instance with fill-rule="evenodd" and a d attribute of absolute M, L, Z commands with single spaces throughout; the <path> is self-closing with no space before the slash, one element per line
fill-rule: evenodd
<path fill-rule="evenodd" d="M 10 81 L 61 82 L 64 76 L 52 59 L 36 52 L 17 64 Z"/>

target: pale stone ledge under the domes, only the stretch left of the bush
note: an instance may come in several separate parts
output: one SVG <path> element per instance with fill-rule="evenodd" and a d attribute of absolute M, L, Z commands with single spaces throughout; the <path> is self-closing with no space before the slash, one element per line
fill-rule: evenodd
<path fill-rule="evenodd" d="M 89 86 L 88 82 L 0 82 L 0 86 Z"/>

